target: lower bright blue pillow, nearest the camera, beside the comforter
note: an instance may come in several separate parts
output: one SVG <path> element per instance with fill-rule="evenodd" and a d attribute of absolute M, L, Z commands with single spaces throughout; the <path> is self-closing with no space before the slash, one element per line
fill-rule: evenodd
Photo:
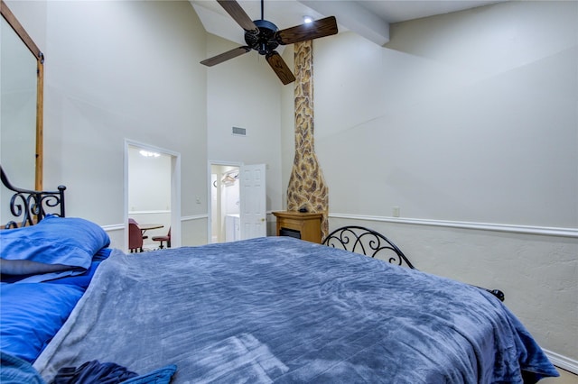
<path fill-rule="evenodd" d="M 33 362 L 84 292 L 62 284 L 0 284 L 0 350 Z"/>

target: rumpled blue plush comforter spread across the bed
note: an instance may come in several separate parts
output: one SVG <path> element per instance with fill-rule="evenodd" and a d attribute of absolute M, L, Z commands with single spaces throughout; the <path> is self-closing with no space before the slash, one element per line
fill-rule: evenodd
<path fill-rule="evenodd" d="M 288 237 L 113 252 L 34 367 L 92 360 L 176 364 L 175 383 L 557 376 L 485 290 Z"/>

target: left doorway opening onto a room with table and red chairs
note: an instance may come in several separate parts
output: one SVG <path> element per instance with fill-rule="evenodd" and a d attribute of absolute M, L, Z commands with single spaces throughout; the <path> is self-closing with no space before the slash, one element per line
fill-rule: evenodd
<path fill-rule="evenodd" d="M 129 219 L 141 226 L 144 250 L 159 248 L 153 237 L 169 231 L 172 248 L 180 246 L 180 154 L 126 141 L 125 163 L 126 250 Z"/>

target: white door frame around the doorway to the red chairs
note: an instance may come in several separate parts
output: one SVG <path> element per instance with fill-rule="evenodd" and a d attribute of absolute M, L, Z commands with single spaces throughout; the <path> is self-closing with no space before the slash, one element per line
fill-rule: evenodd
<path fill-rule="evenodd" d="M 181 153 L 170 151 L 156 145 L 125 139 L 125 249 L 128 249 L 128 147 L 142 148 L 144 151 L 154 151 L 171 156 L 171 246 L 178 248 L 182 244 L 181 236 Z"/>

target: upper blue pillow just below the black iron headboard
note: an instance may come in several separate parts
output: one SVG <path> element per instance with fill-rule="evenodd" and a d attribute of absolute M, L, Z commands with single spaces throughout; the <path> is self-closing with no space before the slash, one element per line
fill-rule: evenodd
<path fill-rule="evenodd" d="M 78 217 L 50 215 L 33 226 L 0 231 L 2 273 L 87 270 L 92 256 L 108 244 L 110 238 L 98 224 Z"/>

